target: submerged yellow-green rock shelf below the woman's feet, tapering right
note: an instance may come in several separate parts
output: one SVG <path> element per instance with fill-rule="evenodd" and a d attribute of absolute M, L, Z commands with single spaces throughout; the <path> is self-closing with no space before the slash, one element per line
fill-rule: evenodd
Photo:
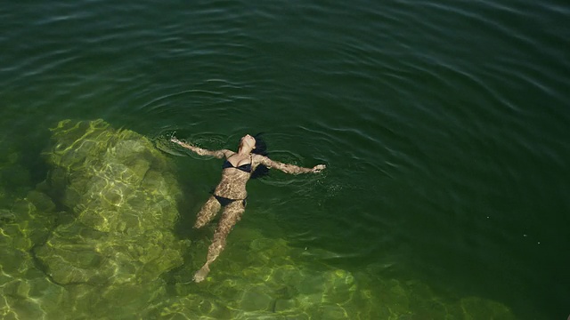
<path fill-rule="evenodd" d="M 280 238 L 236 228 L 232 245 L 196 285 L 177 270 L 177 296 L 157 306 L 161 319 L 515 319 L 509 308 L 478 297 L 441 297 L 427 284 L 351 273 L 319 262 L 331 252 L 290 246 Z M 194 245 L 191 252 L 200 246 Z"/>

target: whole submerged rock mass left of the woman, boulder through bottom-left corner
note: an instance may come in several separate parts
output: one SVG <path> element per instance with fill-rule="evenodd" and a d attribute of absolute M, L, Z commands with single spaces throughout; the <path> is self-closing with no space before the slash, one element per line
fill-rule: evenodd
<path fill-rule="evenodd" d="M 102 120 L 62 121 L 43 156 L 33 190 L 20 156 L 0 155 L 0 317 L 147 318 L 187 247 L 167 157 Z"/>

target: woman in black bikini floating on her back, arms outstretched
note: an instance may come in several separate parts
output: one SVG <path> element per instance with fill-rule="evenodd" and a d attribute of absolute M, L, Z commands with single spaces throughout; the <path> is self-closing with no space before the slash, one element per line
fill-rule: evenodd
<path fill-rule="evenodd" d="M 292 174 L 321 172 L 325 168 L 324 164 L 315 165 L 313 168 L 303 168 L 293 164 L 281 164 L 267 156 L 258 155 L 255 150 L 258 147 L 256 145 L 257 141 L 249 134 L 241 138 L 238 152 L 227 149 L 211 151 L 191 146 L 176 138 L 172 138 L 171 141 L 179 144 L 183 148 L 189 148 L 200 156 L 216 156 L 216 158 L 220 159 L 225 157 L 226 159 L 222 165 L 222 180 L 217 185 L 213 195 L 209 197 L 206 204 L 204 204 L 198 212 L 198 219 L 196 220 L 196 224 L 194 224 L 194 228 L 205 226 L 210 220 L 214 219 L 216 213 L 224 207 L 224 212 L 222 212 L 222 217 L 214 233 L 214 239 L 208 248 L 206 263 L 193 277 L 197 283 L 208 276 L 210 263 L 214 262 L 220 252 L 224 250 L 225 238 L 233 226 L 241 219 L 241 215 L 246 208 L 246 198 L 248 197 L 246 183 L 248 183 L 252 172 L 256 171 L 258 165 L 265 165 L 267 168 L 275 168 L 282 172 Z"/>

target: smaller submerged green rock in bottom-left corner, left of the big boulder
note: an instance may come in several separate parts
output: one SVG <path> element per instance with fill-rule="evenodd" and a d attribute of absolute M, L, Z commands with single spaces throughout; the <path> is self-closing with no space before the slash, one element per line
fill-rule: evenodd
<path fill-rule="evenodd" d="M 0 209 L 0 315 L 3 319 L 57 318 L 64 289 L 48 281 L 30 253 L 44 243 L 59 212 L 45 194 L 31 191 Z M 48 317 L 50 318 L 50 317 Z"/>

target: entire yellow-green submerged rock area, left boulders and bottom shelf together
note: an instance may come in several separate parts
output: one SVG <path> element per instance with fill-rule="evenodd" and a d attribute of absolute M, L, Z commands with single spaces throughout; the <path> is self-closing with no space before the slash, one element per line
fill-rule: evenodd
<path fill-rule="evenodd" d="M 209 241 L 175 239 L 181 191 L 166 156 L 102 120 L 66 120 L 52 134 L 36 190 L 16 153 L 0 156 L 0 176 L 10 177 L 0 183 L 2 319 L 515 318 L 492 300 L 327 265 L 333 252 L 291 246 L 246 221 L 211 278 L 195 284 Z M 180 267 L 182 252 L 199 258 Z M 167 285 L 161 275 L 173 268 Z"/>

